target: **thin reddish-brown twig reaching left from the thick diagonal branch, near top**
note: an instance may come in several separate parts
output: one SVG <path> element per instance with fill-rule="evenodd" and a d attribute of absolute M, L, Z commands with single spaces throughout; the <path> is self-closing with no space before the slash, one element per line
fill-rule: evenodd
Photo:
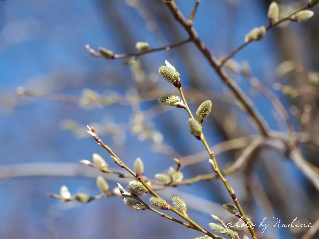
<path fill-rule="evenodd" d="M 152 53 L 152 52 L 157 52 L 157 51 L 169 51 L 170 49 L 172 48 L 175 48 L 175 47 L 180 47 L 186 43 L 190 42 L 190 38 L 189 39 L 186 39 L 186 40 L 183 40 L 181 42 L 178 42 L 178 43 L 175 43 L 173 45 L 167 45 L 167 46 L 164 46 L 164 47 L 159 47 L 159 48 L 153 48 L 151 50 L 148 50 L 148 51 L 143 51 L 143 52 L 138 52 L 138 53 L 130 53 L 130 54 L 114 54 L 111 59 L 118 59 L 118 58 L 125 58 L 125 57 L 130 57 L 130 56 L 135 56 L 135 57 L 139 57 L 141 55 L 145 55 L 145 54 L 149 54 L 149 53 Z M 93 56 L 95 57 L 102 57 L 102 55 L 98 52 L 96 52 L 93 48 L 90 47 L 90 45 L 86 45 L 85 46 L 85 49 Z"/>

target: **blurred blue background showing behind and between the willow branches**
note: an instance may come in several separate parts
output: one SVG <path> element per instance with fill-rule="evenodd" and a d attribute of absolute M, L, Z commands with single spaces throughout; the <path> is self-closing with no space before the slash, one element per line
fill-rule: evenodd
<path fill-rule="evenodd" d="M 191 0 L 175 2 L 185 16 L 190 15 L 195 3 Z M 267 4 L 263 1 L 241 0 L 233 6 L 221 0 L 203 0 L 194 26 L 210 51 L 220 57 L 238 46 L 250 29 L 266 25 L 267 22 Z M 296 34 L 301 33 L 298 26 L 293 30 Z M 267 32 L 262 42 L 252 43 L 235 56 L 238 62 L 248 61 L 252 74 L 268 87 L 274 82 L 278 63 L 283 60 L 278 51 L 275 34 L 276 31 Z M 122 66 L 120 59 L 105 61 L 102 58 L 94 58 L 85 50 L 85 44 L 90 44 L 94 49 L 102 46 L 118 54 L 131 53 L 136 51 L 134 45 L 137 41 L 146 41 L 155 48 L 184 39 L 187 39 L 187 34 L 174 22 L 168 9 L 159 0 L 0 2 L 1 166 L 19 164 L 23 167 L 26 163 L 34 163 L 29 168 L 32 174 L 32 167 L 37 168 L 37 163 L 56 163 L 52 164 L 52 171 L 65 172 L 63 168 L 56 169 L 57 166 L 63 165 L 58 163 L 77 165 L 78 160 L 91 160 L 92 154 L 98 153 L 108 161 L 110 167 L 115 168 L 116 165 L 111 164 L 109 155 L 85 135 L 87 124 L 107 126 L 113 122 L 120 124 L 119 127 L 124 133 L 119 137 L 110 134 L 101 137 L 128 165 L 132 166 L 135 158 L 141 157 L 148 177 L 153 178 L 155 173 L 165 171 L 173 165 L 171 157 L 154 152 L 154 141 L 137 140 L 138 135 L 127 126 L 127 122 L 132 123 L 134 115 L 136 116 L 130 105 L 115 104 L 86 109 L 74 103 L 17 96 L 16 89 L 23 86 L 34 92 L 61 93 L 74 97 L 83 95 L 81 92 L 84 88 L 106 96 L 115 91 L 121 96 L 147 92 L 155 86 L 173 91 L 174 89 L 157 75 L 157 69 L 168 60 L 180 72 L 186 90 L 195 87 L 229 97 L 230 93 L 226 87 L 220 83 L 204 57 L 191 43 L 169 52 L 142 56 L 140 63 L 144 75 L 139 76 L 140 78 L 134 76 L 134 69 Z M 270 128 L 286 130 L 285 127 L 278 126 L 271 103 L 263 96 L 251 92 L 250 85 L 240 76 L 232 76 L 252 97 Z M 287 98 L 280 93 L 276 94 L 286 106 L 289 105 Z M 226 117 L 222 126 L 234 128 L 233 135 L 258 133 L 249 118 L 238 110 L 236 105 L 225 106 L 212 101 L 220 109 L 230 112 L 228 117 L 232 116 L 234 122 L 226 125 L 226 120 L 229 119 Z M 142 102 L 140 110 L 144 112 L 156 105 L 156 99 Z M 193 111 L 196 108 L 197 104 L 191 104 Z M 162 134 L 163 143 L 173 147 L 179 155 L 186 156 L 204 149 L 188 132 L 186 112 L 172 109 L 152 119 L 148 119 L 147 115 L 144 117 L 147 124 Z M 77 135 L 62 130 L 61 122 L 65 123 L 65 119 L 76 121 L 78 127 L 83 129 L 83 134 Z M 229 135 L 222 132 L 220 125 L 216 127 L 216 124 L 216 121 L 207 121 L 205 130 L 210 145 L 229 138 Z M 294 125 L 299 127 L 297 122 L 294 122 Z M 231 163 L 235 156 L 238 156 L 236 152 L 225 153 L 218 157 L 218 161 L 224 167 Z M 271 162 L 278 162 L 276 170 L 282 181 L 289 182 L 284 189 L 278 189 L 289 191 L 289 202 L 286 202 L 284 208 L 278 209 L 274 206 L 275 215 L 284 218 L 283 221 L 292 220 L 295 216 L 305 223 L 311 221 L 307 215 L 307 205 L 311 198 L 311 194 L 306 192 L 308 181 L 293 163 L 284 160 L 278 153 L 266 150 L 260 157 L 270 160 L 275 158 Z M 44 165 L 49 165 L 46 169 L 50 169 L 51 164 Z M 185 167 L 184 177 L 210 173 L 206 166 L 205 163 L 199 163 Z M 275 182 L 267 180 L 264 164 L 258 164 L 256 167 L 266 192 L 270 194 L 271 200 L 276 202 L 276 195 L 272 195 L 272 192 L 276 191 L 272 191 L 271 185 Z M 71 193 L 81 191 L 90 195 L 99 194 L 95 178 L 75 176 L 81 174 L 83 168 L 84 165 L 78 165 L 78 171 L 70 173 L 69 177 L 28 177 L 28 172 L 25 172 L 26 177 L 10 178 L 9 171 L 7 175 L 2 171 L 1 176 L 4 179 L 0 183 L 0 238 L 147 238 L 151 234 L 152 238 L 156 239 L 199 236 L 196 231 L 172 225 L 171 221 L 151 212 L 133 212 L 117 197 L 78 205 L 73 202 L 62 203 L 46 196 L 47 192 L 58 193 L 61 185 L 67 185 Z M 92 172 L 98 173 L 95 170 L 90 172 L 90 175 Z M 250 205 L 250 214 L 257 221 L 269 215 L 260 209 L 260 205 L 251 203 L 251 199 L 245 196 L 243 175 L 235 174 L 227 178 L 236 188 L 243 204 Z M 115 181 L 108 181 L 111 188 L 116 185 L 117 179 L 113 177 L 113 180 Z M 220 205 L 230 201 L 218 180 L 181 186 L 176 190 Z M 198 202 L 194 200 L 194 203 Z M 210 214 L 215 214 L 213 208 L 207 208 L 206 214 L 195 209 L 189 211 L 189 215 L 205 227 L 213 221 Z M 269 222 L 271 221 L 273 220 L 269 218 Z M 270 238 L 297 238 L 289 229 L 283 228 L 270 228 L 266 230 L 265 235 L 267 234 Z"/>

